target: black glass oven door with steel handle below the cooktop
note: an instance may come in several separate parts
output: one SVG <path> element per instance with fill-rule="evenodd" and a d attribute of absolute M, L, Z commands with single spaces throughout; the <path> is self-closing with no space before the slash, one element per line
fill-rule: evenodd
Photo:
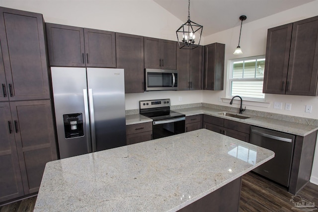
<path fill-rule="evenodd" d="M 153 139 L 160 139 L 184 132 L 185 117 L 153 122 Z"/>

